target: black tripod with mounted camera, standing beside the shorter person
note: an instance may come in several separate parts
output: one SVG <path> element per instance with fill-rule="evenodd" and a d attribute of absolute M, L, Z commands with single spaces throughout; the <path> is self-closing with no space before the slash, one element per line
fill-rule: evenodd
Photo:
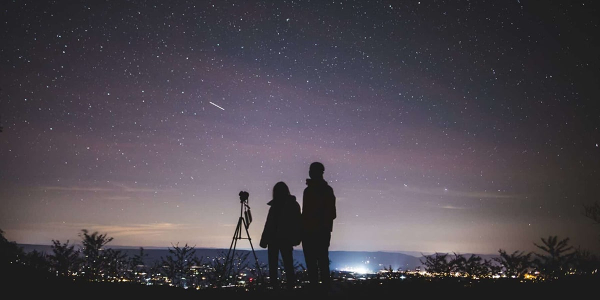
<path fill-rule="evenodd" d="M 247 239 L 250 242 L 250 248 L 252 249 L 252 254 L 254 254 L 254 260 L 256 261 L 256 269 L 258 271 L 259 280 L 262 279 L 262 270 L 260 269 L 259 259 L 256 256 L 256 252 L 254 251 L 254 247 L 252 245 L 252 239 L 250 238 L 250 233 L 248 233 L 248 227 L 252 222 L 252 215 L 250 214 L 250 206 L 248 205 L 248 192 L 241 191 L 239 192 L 239 200 L 240 200 L 240 208 L 239 208 L 239 219 L 238 226 L 235 229 L 235 233 L 233 233 L 233 239 L 231 241 L 231 245 L 229 246 L 229 251 L 227 251 L 227 258 L 225 259 L 224 267 L 227 270 L 226 278 L 229 278 L 231 271 L 233 269 L 233 257 L 235 256 L 235 247 L 238 245 L 238 239 Z M 246 230 L 247 238 L 242 238 L 242 225 Z"/>

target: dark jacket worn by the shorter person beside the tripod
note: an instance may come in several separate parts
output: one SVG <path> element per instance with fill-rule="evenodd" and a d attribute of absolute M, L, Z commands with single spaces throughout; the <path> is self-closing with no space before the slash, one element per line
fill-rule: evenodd
<path fill-rule="evenodd" d="M 266 248 L 269 244 L 300 245 L 302 219 L 296 196 L 273 199 L 267 205 L 271 207 L 260 236 L 260 247 Z"/>

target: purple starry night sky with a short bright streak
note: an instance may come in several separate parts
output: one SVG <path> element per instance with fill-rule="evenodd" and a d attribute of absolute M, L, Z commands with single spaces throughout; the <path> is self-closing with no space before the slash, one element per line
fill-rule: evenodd
<path fill-rule="evenodd" d="M 0 229 L 227 249 L 243 190 L 257 249 L 320 161 L 330 250 L 599 251 L 598 8 L 3 1 Z"/>

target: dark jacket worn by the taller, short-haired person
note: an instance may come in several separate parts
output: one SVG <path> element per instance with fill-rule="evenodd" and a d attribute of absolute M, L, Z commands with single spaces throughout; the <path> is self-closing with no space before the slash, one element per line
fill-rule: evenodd
<path fill-rule="evenodd" d="M 325 179 L 306 179 L 302 195 L 302 226 L 304 233 L 332 232 L 335 212 L 335 194 Z"/>

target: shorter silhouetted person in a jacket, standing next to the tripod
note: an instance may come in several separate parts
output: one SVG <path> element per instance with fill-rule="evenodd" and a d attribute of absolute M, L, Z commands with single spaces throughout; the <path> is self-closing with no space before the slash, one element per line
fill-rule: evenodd
<path fill-rule="evenodd" d="M 292 289 L 296 284 L 292 251 L 294 246 L 300 245 L 302 235 L 300 205 L 296 196 L 292 196 L 287 185 L 281 181 L 273 187 L 273 199 L 267 204 L 271 208 L 260 236 L 260 247 L 267 248 L 269 284 L 278 287 L 278 262 L 281 253 L 283 268 L 286 271 L 286 285 Z"/>

